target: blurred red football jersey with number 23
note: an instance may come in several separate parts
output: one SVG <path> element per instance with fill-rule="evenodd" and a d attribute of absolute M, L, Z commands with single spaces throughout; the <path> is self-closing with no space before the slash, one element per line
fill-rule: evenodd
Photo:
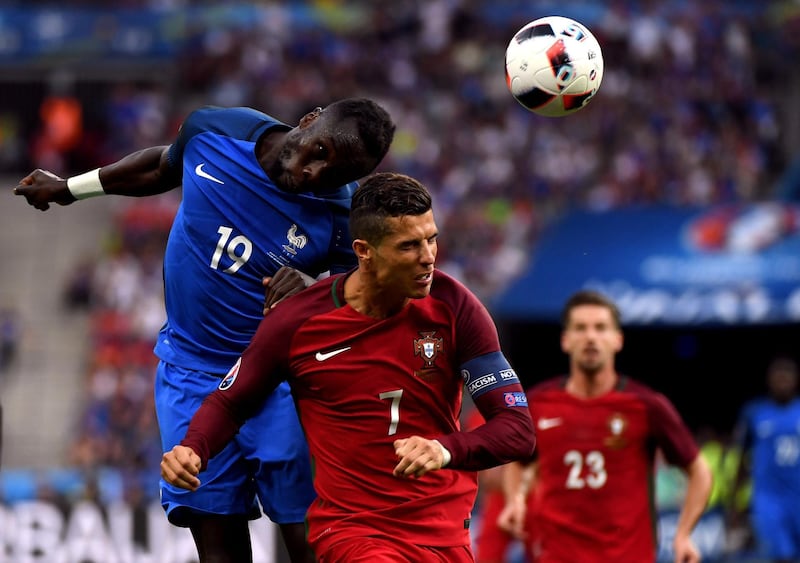
<path fill-rule="evenodd" d="M 581 399 L 566 378 L 528 392 L 537 432 L 538 507 L 531 537 L 540 563 L 656 558 L 656 449 L 686 467 L 697 445 L 674 406 L 621 377 L 611 392 Z"/>

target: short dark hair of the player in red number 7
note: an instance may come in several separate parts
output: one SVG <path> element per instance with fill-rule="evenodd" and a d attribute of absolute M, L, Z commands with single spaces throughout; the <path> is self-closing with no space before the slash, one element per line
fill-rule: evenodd
<path fill-rule="evenodd" d="M 369 176 L 353 193 L 350 206 L 350 235 L 370 244 L 389 233 L 388 217 L 422 215 L 432 206 L 428 189 L 420 182 L 395 172 Z"/>

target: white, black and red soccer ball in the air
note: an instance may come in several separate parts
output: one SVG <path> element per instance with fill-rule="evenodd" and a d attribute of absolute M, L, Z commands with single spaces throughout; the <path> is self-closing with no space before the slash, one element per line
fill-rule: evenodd
<path fill-rule="evenodd" d="M 586 107 L 603 80 L 603 53 L 586 26 L 562 16 L 534 20 L 506 49 L 506 84 L 540 115 L 558 117 Z"/>

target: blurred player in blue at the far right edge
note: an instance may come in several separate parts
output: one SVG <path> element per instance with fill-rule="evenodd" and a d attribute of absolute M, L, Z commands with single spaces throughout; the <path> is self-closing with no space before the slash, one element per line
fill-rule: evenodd
<path fill-rule="evenodd" d="M 752 479 L 750 516 L 759 555 L 775 563 L 800 560 L 800 397 L 798 368 L 776 358 L 767 369 L 768 395 L 744 405 L 735 431 L 742 448 L 736 481 Z M 749 471 L 746 471 L 748 470 Z"/>

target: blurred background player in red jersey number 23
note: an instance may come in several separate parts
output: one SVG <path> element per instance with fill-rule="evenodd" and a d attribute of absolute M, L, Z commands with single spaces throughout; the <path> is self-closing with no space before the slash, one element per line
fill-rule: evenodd
<path fill-rule="evenodd" d="M 539 563 L 655 561 L 654 463 L 660 448 L 688 478 L 675 561 L 699 561 L 690 533 L 711 493 L 712 474 L 694 438 L 666 397 L 616 372 L 623 337 L 610 300 L 578 292 L 562 321 L 569 375 L 528 391 L 537 431 L 531 556 Z M 507 467 L 510 490 L 519 487 L 522 473 L 519 464 Z M 524 504 L 510 502 L 501 521 L 519 534 L 523 517 Z"/>

